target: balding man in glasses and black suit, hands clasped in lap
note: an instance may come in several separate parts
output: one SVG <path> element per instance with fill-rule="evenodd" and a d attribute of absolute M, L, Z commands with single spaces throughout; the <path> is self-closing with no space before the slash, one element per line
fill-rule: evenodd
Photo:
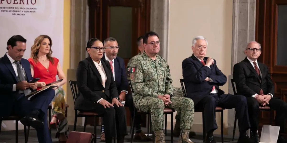
<path fill-rule="evenodd" d="M 246 96 L 251 124 L 251 135 L 258 142 L 259 106 L 269 106 L 276 110 L 275 125 L 280 126 L 280 134 L 285 132 L 287 103 L 274 97 L 274 84 L 267 65 L 257 61 L 261 54 L 261 46 L 256 41 L 248 43 L 247 56 L 233 67 L 233 80 L 237 93 Z M 280 135 L 278 143 L 286 142 Z"/>

